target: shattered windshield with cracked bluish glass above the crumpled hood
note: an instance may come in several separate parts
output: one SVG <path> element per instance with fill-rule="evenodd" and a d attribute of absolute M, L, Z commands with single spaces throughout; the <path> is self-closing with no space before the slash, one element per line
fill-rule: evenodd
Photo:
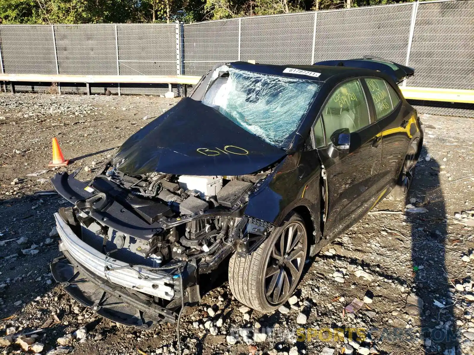
<path fill-rule="evenodd" d="M 224 73 L 219 69 L 202 103 L 264 141 L 286 148 L 321 84 L 227 66 Z"/>

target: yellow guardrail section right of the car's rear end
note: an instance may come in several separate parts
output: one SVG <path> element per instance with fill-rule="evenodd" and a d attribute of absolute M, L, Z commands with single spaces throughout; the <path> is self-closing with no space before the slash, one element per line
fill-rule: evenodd
<path fill-rule="evenodd" d="M 474 104 L 474 90 L 400 87 L 403 96 L 412 100 L 460 102 Z"/>

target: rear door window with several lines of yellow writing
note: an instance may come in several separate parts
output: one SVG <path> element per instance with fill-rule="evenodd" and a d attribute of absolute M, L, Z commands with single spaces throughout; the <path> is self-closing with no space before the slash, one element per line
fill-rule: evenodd
<path fill-rule="evenodd" d="M 374 100 L 377 121 L 393 112 L 401 101 L 395 90 L 383 79 L 365 79 Z"/>

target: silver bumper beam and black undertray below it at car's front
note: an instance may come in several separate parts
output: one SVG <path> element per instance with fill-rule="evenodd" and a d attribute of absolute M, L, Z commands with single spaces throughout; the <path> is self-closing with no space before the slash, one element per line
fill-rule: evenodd
<path fill-rule="evenodd" d="M 157 305 L 153 296 L 181 298 L 178 275 L 106 257 L 76 236 L 59 213 L 55 220 L 65 257 L 55 259 L 51 271 L 76 301 L 104 318 L 140 329 L 161 321 L 174 323 L 175 312 Z"/>

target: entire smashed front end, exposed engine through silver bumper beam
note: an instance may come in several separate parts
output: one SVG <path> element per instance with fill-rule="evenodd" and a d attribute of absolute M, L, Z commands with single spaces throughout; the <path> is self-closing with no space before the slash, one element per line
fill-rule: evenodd
<path fill-rule="evenodd" d="M 97 278 L 101 289 L 108 281 L 109 287 L 132 289 L 139 299 L 151 297 L 154 307 L 160 305 L 160 316 L 181 305 L 182 292 L 186 302 L 199 301 L 199 275 L 218 268 L 233 251 L 247 255 L 273 230 L 271 223 L 248 217 L 244 210 L 248 196 L 274 167 L 242 176 L 128 176 L 109 163 L 87 185 L 73 175 L 57 174 L 52 179 L 56 190 L 74 206 L 55 215 L 67 259 L 52 264 L 53 275 L 64 283 L 70 275 L 89 273 L 87 278 Z M 79 291 L 70 292 L 76 299 L 84 296 L 74 292 Z"/>

